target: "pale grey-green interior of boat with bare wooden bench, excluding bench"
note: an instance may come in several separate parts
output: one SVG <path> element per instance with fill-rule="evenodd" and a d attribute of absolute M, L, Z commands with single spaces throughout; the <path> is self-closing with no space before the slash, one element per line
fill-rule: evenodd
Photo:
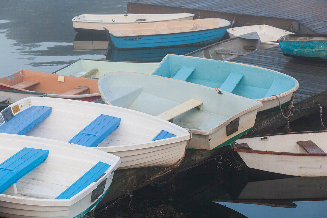
<path fill-rule="evenodd" d="M 262 105 L 227 92 L 219 94 L 206 86 L 140 73 L 106 74 L 100 78 L 98 88 L 107 104 L 153 116 L 191 99 L 202 101 L 198 109 L 193 108 L 174 118 L 174 123 L 183 128 L 202 131 L 211 131 L 224 120 Z"/>

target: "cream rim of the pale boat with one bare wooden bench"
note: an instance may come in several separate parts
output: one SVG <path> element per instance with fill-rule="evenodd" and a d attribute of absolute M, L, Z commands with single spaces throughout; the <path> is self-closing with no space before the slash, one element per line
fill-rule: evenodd
<path fill-rule="evenodd" d="M 132 73 L 132 74 L 140 74 L 140 75 L 144 75 L 144 76 L 153 76 L 153 77 L 160 77 L 160 78 L 163 78 L 163 79 L 167 79 L 167 80 L 175 80 L 175 81 L 179 81 L 179 82 L 186 82 L 186 81 L 181 81 L 181 80 L 176 80 L 176 79 L 173 79 L 173 78 L 167 78 L 167 77 L 161 77 L 161 76 L 157 76 L 157 75 L 152 75 L 152 74 L 144 74 L 144 73 L 137 73 L 137 72 L 122 72 L 122 71 L 116 71 L 116 72 L 111 72 L 111 73 L 107 73 L 107 74 L 104 74 L 102 75 L 100 78 L 99 78 L 99 81 L 98 81 L 98 90 L 99 90 L 99 93 L 100 93 L 100 96 L 102 98 L 102 96 L 104 96 L 101 88 L 100 88 L 100 81 L 102 79 L 102 77 L 106 76 L 106 75 L 109 75 L 109 74 L 112 74 L 112 73 Z M 218 89 L 215 89 L 215 88 L 211 88 L 211 87 L 208 87 L 208 86 L 204 86 L 204 85 L 199 85 L 199 84 L 196 84 L 196 83 L 192 83 L 192 82 L 186 82 L 186 83 L 189 83 L 189 84 L 192 84 L 192 85 L 197 85 L 197 86 L 200 86 L 200 87 L 205 87 L 205 88 L 209 88 L 209 89 L 212 89 L 212 90 L 215 90 L 215 91 L 220 91 Z M 248 98 L 245 98 L 245 97 L 242 97 L 242 96 L 238 96 L 238 95 L 235 95 L 235 94 L 232 94 L 232 93 L 229 93 L 229 92 L 225 92 L 225 91 L 221 91 L 227 95 L 234 95 L 234 96 L 237 96 L 238 98 L 242 98 L 242 99 L 246 99 L 246 100 L 250 100 L 250 101 L 257 101 L 257 100 L 253 100 L 253 99 L 248 99 Z M 103 101 L 106 103 L 106 104 L 109 104 L 109 105 L 112 105 L 106 98 L 102 98 Z M 256 109 L 259 109 L 260 107 L 262 107 L 262 103 L 260 101 L 257 101 L 258 103 L 249 107 L 248 109 L 246 110 L 243 110 L 237 114 L 234 114 L 233 116 L 231 117 L 228 117 L 226 118 L 225 120 L 223 120 L 222 122 L 220 122 L 218 125 L 214 126 L 213 128 L 209 129 L 209 130 L 198 130 L 198 129 L 191 129 L 191 128 L 184 128 L 184 129 L 187 129 L 187 130 L 190 130 L 192 132 L 192 134 L 198 134 L 198 135 L 210 135 L 212 133 L 215 133 L 218 129 L 222 128 L 223 126 L 227 125 L 228 123 L 230 123 L 231 121 L 233 121 L 234 119 L 236 118 L 239 118 L 249 112 L 252 112 Z M 113 105 L 114 106 L 114 105 Z M 181 127 L 183 128 L 183 127 Z"/>

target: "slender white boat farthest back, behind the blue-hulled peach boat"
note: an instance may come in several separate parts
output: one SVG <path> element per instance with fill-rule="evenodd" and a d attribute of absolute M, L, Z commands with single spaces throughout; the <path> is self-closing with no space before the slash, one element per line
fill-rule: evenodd
<path fill-rule="evenodd" d="M 129 23 L 152 23 L 163 21 L 192 20 L 194 14 L 81 14 L 72 19 L 73 27 L 77 32 L 103 31 L 104 26 Z M 85 19 L 92 18 L 92 19 Z M 93 20 L 93 21 L 92 21 Z M 136 20 L 140 20 L 136 22 Z"/>

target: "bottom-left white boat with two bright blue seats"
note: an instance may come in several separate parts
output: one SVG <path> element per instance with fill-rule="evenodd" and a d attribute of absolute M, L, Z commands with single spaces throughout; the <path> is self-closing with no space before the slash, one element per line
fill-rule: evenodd
<path fill-rule="evenodd" d="M 0 134 L 0 216 L 80 217 L 108 191 L 120 158 L 75 144 Z"/>

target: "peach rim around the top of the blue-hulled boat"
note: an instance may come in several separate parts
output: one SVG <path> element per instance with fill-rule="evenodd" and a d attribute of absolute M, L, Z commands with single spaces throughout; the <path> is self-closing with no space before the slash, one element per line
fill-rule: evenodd
<path fill-rule="evenodd" d="M 215 19 L 215 20 L 225 20 L 225 19 L 221 19 L 221 18 L 203 18 L 203 19 L 195 19 L 195 21 L 197 20 L 204 20 L 204 19 Z M 190 20 L 184 20 L 184 21 L 190 21 Z M 225 20 L 228 21 L 228 20 Z M 181 22 L 181 21 L 167 21 L 167 22 Z M 218 21 L 220 23 L 220 21 Z M 202 29 L 189 29 L 189 30 L 183 30 L 183 31 L 175 31 L 175 32 L 159 32 L 159 33 L 147 33 L 147 34 L 130 34 L 130 35 L 125 35 L 125 36 L 117 36 L 114 33 L 112 33 L 112 31 L 110 31 L 107 27 L 112 26 L 112 25 L 108 25 L 108 26 L 104 26 L 104 30 L 106 32 L 108 32 L 110 34 L 110 36 L 116 37 L 116 38 L 126 38 L 126 37 L 143 37 L 143 36 L 158 36 L 158 35 L 169 35 L 169 34 L 183 34 L 183 33 L 189 33 L 189 32 L 198 32 L 198 31 L 205 31 L 205 30 L 215 30 L 215 29 L 220 29 L 223 27 L 229 27 L 231 26 L 231 22 L 228 21 L 229 24 L 227 25 L 221 25 L 221 26 L 215 26 L 215 27 L 209 27 L 209 28 L 202 28 Z M 137 24 L 119 24 L 119 25 L 137 25 Z M 220 25 L 220 24 L 219 24 Z M 115 25 L 118 26 L 118 25 Z M 112 43 L 111 43 L 112 44 Z M 191 43 L 193 44 L 193 43 Z M 164 46 L 165 47 L 165 46 Z"/>

